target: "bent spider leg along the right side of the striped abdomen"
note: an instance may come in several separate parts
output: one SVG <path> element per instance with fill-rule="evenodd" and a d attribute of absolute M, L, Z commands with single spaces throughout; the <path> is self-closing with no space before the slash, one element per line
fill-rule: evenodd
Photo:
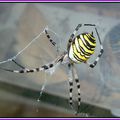
<path fill-rule="evenodd" d="M 93 67 L 96 66 L 97 62 L 99 61 L 100 57 L 102 56 L 102 54 L 103 54 L 103 52 L 104 52 L 103 46 L 102 46 L 102 42 L 101 42 L 101 39 L 100 39 L 100 36 L 99 36 L 99 33 L 98 33 L 96 27 L 95 27 L 95 31 L 96 31 L 96 34 L 97 34 L 97 36 L 98 36 L 98 40 L 99 40 L 99 43 L 100 43 L 100 53 L 99 53 L 99 55 L 97 56 L 97 58 L 95 59 L 95 61 L 94 61 L 92 64 L 91 64 L 91 63 L 88 63 L 91 68 L 93 68 Z"/>

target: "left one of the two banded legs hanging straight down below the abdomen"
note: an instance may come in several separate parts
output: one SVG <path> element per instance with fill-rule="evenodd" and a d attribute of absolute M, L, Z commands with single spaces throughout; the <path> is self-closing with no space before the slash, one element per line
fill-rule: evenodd
<path fill-rule="evenodd" d="M 73 109 L 72 91 L 73 91 L 73 75 L 72 75 L 72 64 L 68 64 L 68 80 L 69 80 L 69 104 Z"/>

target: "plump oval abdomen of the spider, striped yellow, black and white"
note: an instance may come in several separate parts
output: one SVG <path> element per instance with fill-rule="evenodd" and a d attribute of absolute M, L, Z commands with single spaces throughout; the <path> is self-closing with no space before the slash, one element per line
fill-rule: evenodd
<path fill-rule="evenodd" d="M 94 53 L 96 47 L 96 39 L 90 33 L 83 33 L 74 38 L 69 50 L 69 58 L 75 62 L 86 62 Z"/>

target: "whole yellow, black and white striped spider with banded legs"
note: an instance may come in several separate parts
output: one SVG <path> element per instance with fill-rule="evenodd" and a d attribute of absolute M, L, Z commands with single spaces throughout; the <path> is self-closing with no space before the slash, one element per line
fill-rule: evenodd
<path fill-rule="evenodd" d="M 77 31 L 82 26 L 93 26 L 95 28 L 99 43 L 100 43 L 100 53 L 98 54 L 97 58 L 93 63 L 89 63 L 87 60 L 91 57 L 91 55 L 95 51 L 96 47 L 96 38 L 92 33 L 81 33 L 79 35 L 76 35 Z M 56 42 L 54 42 L 49 33 L 48 29 L 44 30 L 44 33 L 46 34 L 48 40 L 53 46 L 57 46 Z M 85 63 L 88 64 L 89 67 L 94 68 L 99 61 L 99 58 L 103 54 L 103 46 L 101 43 L 101 39 L 99 36 L 99 33 L 97 31 L 95 24 L 78 24 L 75 28 L 74 32 L 70 35 L 70 38 L 68 40 L 67 44 L 67 50 L 64 51 L 62 54 L 60 54 L 55 60 L 53 60 L 49 64 L 45 64 L 43 66 L 40 66 L 38 68 L 34 69 L 28 69 L 17 63 L 14 59 L 12 60 L 15 64 L 17 64 L 19 67 L 21 67 L 21 70 L 11 70 L 6 68 L 1 68 L 5 71 L 9 72 L 15 72 L 15 73 L 31 73 L 31 72 L 39 72 L 39 71 L 47 71 L 51 68 L 54 68 L 58 64 L 67 64 L 68 66 L 68 81 L 69 81 L 69 104 L 73 108 L 73 98 L 72 98 L 72 92 L 73 92 L 73 80 L 75 80 L 77 84 L 77 90 L 78 90 L 78 108 L 77 112 L 80 108 L 81 103 L 81 96 L 80 96 L 80 82 L 77 75 L 77 71 L 75 69 L 75 64 Z"/>

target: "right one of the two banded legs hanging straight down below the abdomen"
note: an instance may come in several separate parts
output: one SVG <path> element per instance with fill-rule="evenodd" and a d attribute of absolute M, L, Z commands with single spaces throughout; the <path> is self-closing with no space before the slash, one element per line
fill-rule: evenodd
<path fill-rule="evenodd" d="M 80 81 L 79 81 L 75 66 L 73 66 L 73 74 L 74 74 L 74 79 L 77 84 L 77 90 L 78 90 L 78 108 L 77 108 L 77 112 L 76 112 L 76 114 L 77 114 L 79 112 L 79 108 L 80 108 L 81 96 L 80 96 Z"/>

